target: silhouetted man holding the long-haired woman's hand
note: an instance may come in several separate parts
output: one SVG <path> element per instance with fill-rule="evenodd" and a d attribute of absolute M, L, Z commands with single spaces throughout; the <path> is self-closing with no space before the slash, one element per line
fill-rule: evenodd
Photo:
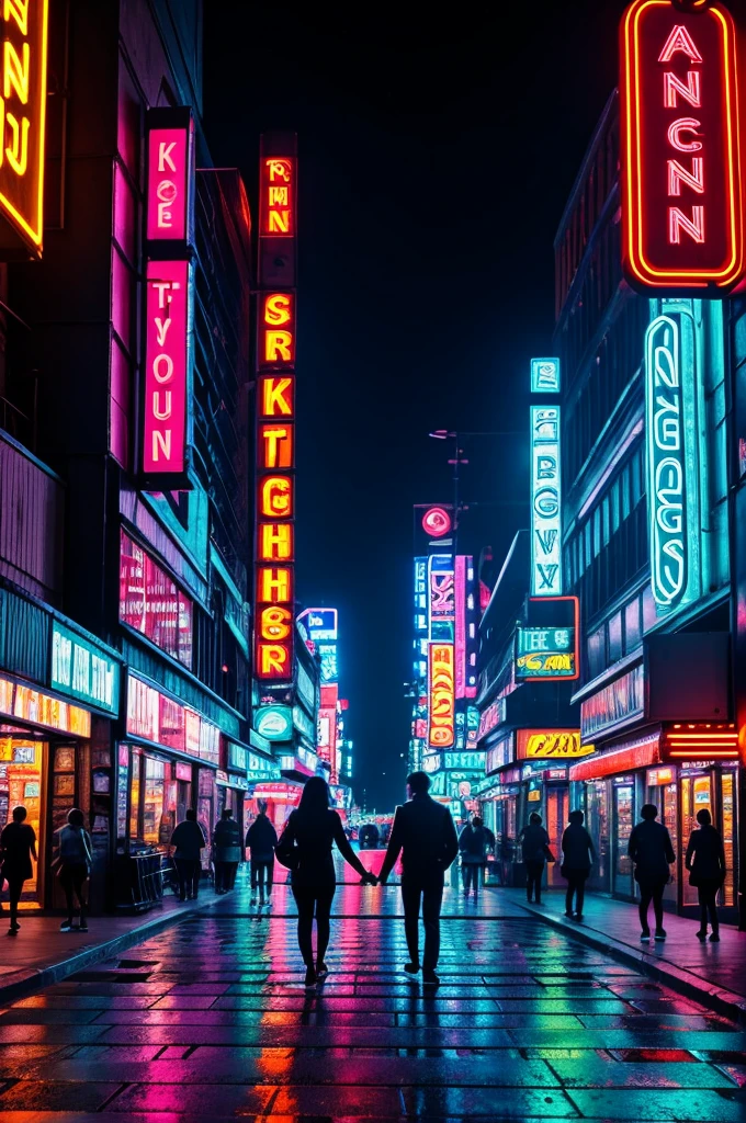
<path fill-rule="evenodd" d="M 422 982 L 437 986 L 436 975 L 440 953 L 440 905 L 445 871 L 458 853 L 458 839 L 451 812 L 429 795 L 427 773 L 412 773 L 407 779 L 409 803 L 397 807 L 389 849 L 381 867 L 380 882 L 385 885 L 401 853 L 401 901 L 404 906 L 404 934 L 409 950 L 408 975 L 417 975 L 419 959 L 419 913 L 422 907 L 425 956 Z"/>

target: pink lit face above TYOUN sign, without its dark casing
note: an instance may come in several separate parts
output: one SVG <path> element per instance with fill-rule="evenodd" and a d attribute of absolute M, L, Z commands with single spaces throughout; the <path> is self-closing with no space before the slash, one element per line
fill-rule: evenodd
<path fill-rule="evenodd" d="M 147 138 L 147 239 L 186 240 L 190 127 L 153 128 Z"/>

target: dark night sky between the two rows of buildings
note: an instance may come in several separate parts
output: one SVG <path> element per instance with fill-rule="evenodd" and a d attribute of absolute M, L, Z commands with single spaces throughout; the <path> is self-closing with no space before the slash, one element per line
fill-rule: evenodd
<path fill-rule="evenodd" d="M 463 546 L 504 556 L 554 234 L 625 4 L 533 0 L 510 26 L 493 6 L 299 7 L 206 4 L 206 127 L 253 206 L 260 133 L 299 134 L 298 593 L 340 610 L 356 792 L 382 810 L 409 737 L 412 503 L 452 494 L 427 433 L 519 431 L 465 444 L 464 500 L 526 499 L 463 517 Z"/>

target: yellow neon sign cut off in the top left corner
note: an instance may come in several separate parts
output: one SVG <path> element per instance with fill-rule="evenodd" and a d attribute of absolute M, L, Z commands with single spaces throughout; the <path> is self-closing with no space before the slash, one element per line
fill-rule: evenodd
<path fill-rule="evenodd" d="M 42 254 L 47 0 L 4 0 L 0 98 L 1 257 Z"/>

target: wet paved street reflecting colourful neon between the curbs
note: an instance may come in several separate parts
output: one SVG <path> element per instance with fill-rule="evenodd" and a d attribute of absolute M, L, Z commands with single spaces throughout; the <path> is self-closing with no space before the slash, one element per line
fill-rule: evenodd
<path fill-rule="evenodd" d="M 366 862 L 367 864 L 367 862 Z M 394 887 L 340 886 L 306 994 L 292 901 L 208 911 L 0 1011 L 3 1123 L 746 1119 L 746 1035 L 506 894 L 444 901 L 410 983 Z"/>

